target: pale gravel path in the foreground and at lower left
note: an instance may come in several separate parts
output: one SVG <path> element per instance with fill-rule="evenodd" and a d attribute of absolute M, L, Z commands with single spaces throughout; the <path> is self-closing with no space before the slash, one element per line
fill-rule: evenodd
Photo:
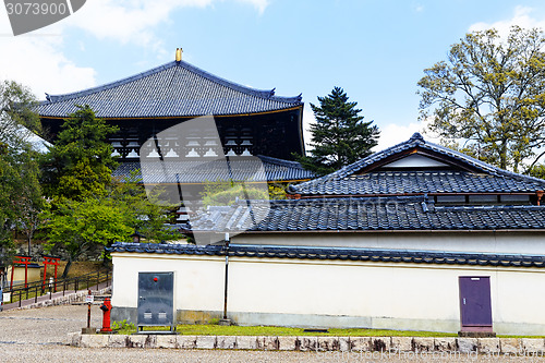
<path fill-rule="evenodd" d="M 98 305 L 92 306 L 92 326 L 101 326 Z M 229 350 L 85 349 L 66 344 L 66 335 L 87 324 L 87 306 L 65 305 L 0 313 L 0 362 L 545 362 L 531 358 L 370 356 L 356 353 L 267 352 Z M 367 353 L 371 354 L 371 353 Z"/>

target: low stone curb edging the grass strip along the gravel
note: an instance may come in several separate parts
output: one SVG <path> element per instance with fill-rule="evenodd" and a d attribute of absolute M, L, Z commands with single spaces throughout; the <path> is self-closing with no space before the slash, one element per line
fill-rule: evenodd
<path fill-rule="evenodd" d="M 421 337 L 258 337 L 181 335 L 82 335 L 68 344 L 83 348 L 242 349 L 317 352 L 390 352 L 545 355 L 545 339 Z M 434 355 L 435 355 L 434 354 Z"/>

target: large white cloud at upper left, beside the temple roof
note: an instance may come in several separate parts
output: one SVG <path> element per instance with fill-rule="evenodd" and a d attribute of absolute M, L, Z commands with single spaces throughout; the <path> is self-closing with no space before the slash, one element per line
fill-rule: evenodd
<path fill-rule="evenodd" d="M 44 99 L 44 93 L 63 94 L 96 85 L 93 68 L 77 66 L 64 53 L 63 35 L 81 28 L 98 39 L 152 47 L 161 53 L 158 26 L 170 21 L 183 7 L 205 8 L 223 0 L 89 0 L 73 15 L 27 35 L 11 36 L 5 12 L 0 11 L 0 80 L 14 80 Z M 253 5 L 262 14 L 268 0 L 237 0 Z M 85 45 L 77 43 L 80 49 Z"/>

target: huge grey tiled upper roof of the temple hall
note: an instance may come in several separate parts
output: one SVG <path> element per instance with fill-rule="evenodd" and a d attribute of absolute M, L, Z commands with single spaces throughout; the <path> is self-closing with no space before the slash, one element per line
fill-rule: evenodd
<path fill-rule="evenodd" d="M 134 76 L 66 95 L 47 95 L 43 117 L 66 117 L 89 105 L 99 118 L 197 117 L 259 113 L 302 105 L 301 96 L 242 86 L 197 69 L 170 62 Z"/>

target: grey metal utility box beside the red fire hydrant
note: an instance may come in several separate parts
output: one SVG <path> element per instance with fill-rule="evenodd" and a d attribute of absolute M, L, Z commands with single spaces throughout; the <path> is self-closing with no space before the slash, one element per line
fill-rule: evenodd
<path fill-rule="evenodd" d="M 138 331 L 149 326 L 174 331 L 174 273 L 138 273 L 137 314 Z"/>

